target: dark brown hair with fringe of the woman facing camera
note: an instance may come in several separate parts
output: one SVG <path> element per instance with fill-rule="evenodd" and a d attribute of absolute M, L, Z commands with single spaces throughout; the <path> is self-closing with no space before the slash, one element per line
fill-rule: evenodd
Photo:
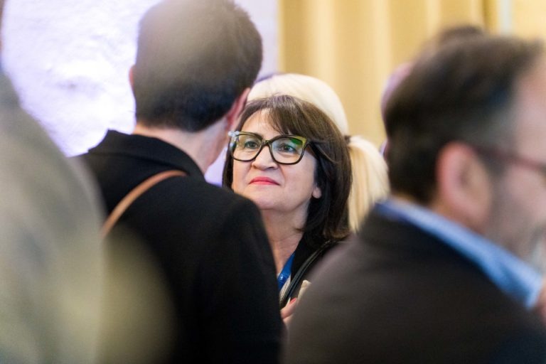
<path fill-rule="evenodd" d="M 278 95 L 249 102 L 237 130 L 257 112 L 264 112 L 271 126 L 282 134 L 296 134 L 310 141 L 316 156 L 315 180 L 321 198 L 311 198 L 303 232 L 326 240 L 342 240 L 349 234 L 347 203 L 351 185 L 350 157 L 338 127 L 318 107 L 296 97 Z M 248 162 L 240 162 L 248 163 Z M 226 156 L 223 185 L 232 188 L 233 159 Z"/>

